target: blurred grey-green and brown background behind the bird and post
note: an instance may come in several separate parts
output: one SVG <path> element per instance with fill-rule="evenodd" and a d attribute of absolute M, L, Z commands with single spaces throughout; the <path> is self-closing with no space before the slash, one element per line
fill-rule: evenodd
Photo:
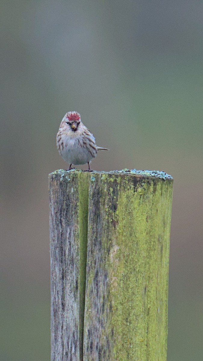
<path fill-rule="evenodd" d="M 48 361 L 48 173 L 64 114 L 96 170 L 174 177 L 168 361 L 203 359 L 203 3 L 1 1 L 1 361 Z"/>

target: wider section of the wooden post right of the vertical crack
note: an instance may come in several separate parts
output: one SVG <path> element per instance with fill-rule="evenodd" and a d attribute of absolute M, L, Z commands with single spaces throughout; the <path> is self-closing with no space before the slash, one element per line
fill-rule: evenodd
<path fill-rule="evenodd" d="M 166 361 L 172 183 L 90 182 L 84 361 Z"/>

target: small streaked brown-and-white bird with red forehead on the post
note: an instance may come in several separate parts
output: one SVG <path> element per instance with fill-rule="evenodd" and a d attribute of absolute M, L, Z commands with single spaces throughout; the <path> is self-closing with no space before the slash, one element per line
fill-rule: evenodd
<path fill-rule="evenodd" d="M 108 151 L 107 148 L 97 147 L 93 134 L 81 122 L 81 116 L 77 112 L 65 114 L 56 136 L 56 145 L 60 156 L 67 163 L 81 165 L 88 164 L 95 158 L 97 151 Z"/>

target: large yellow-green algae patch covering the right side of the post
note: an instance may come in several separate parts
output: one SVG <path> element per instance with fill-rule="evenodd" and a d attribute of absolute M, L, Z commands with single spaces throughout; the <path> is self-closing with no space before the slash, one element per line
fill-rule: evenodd
<path fill-rule="evenodd" d="M 163 190 L 158 182 L 156 192 L 153 181 L 140 186 L 134 192 L 129 183 L 122 185 L 115 214 L 118 262 L 109 265 L 116 279 L 116 286 L 111 284 L 114 360 L 162 361 L 167 355 L 172 184 Z"/>

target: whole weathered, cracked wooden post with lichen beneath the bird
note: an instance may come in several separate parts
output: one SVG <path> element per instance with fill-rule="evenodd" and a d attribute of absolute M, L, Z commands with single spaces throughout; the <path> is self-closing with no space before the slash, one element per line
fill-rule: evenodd
<path fill-rule="evenodd" d="M 49 174 L 51 361 L 166 361 L 173 178 Z"/>

